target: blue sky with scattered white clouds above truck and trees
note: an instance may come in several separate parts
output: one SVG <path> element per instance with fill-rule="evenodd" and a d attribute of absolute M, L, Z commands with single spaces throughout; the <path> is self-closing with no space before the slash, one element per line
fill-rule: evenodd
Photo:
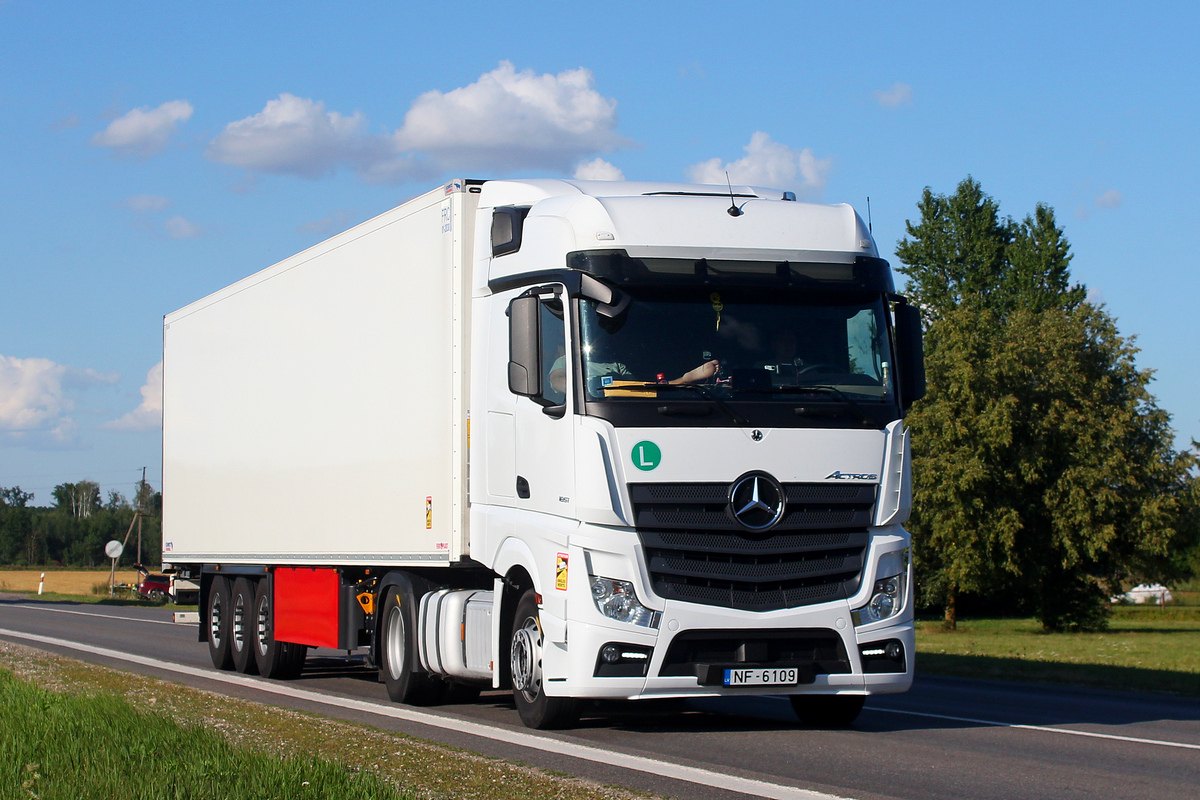
<path fill-rule="evenodd" d="M 160 486 L 162 315 L 449 178 L 869 196 L 895 265 L 970 174 L 1055 207 L 1187 446 L 1200 12 L 1109 8 L 0 0 L 0 486 Z"/>

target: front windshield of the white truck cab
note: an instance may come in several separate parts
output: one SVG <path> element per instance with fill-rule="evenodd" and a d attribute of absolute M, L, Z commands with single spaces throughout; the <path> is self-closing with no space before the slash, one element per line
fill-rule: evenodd
<path fill-rule="evenodd" d="M 790 288 L 623 288 L 616 318 L 580 301 L 586 399 L 893 404 L 883 297 Z M 667 391 L 662 384 L 695 386 Z"/>

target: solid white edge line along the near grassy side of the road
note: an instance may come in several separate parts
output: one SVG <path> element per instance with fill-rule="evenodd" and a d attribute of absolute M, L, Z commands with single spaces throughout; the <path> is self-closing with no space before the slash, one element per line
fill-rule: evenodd
<path fill-rule="evenodd" d="M 101 616 L 101 614 L 96 614 L 96 616 Z M 662 762 L 654 758 L 646 758 L 644 756 L 630 756 L 628 753 L 602 750 L 590 745 L 578 745 L 570 741 L 563 741 L 562 739 L 539 736 L 536 734 L 524 733 L 521 730 L 496 728 L 456 717 L 437 716 L 434 714 L 426 714 L 424 711 L 416 711 L 401 705 L 378 705 L 365 700 L 355 700 L 348 697 L 336 697 L 302 688 L 293 688 L 287 685 L 271 684 L 263 680 L 256 680 L 253 678 L 246 678 L 236 673 L 210 672 L 208 669 L 199 669 L 186 664 L 174 664 L 157 658 L 148 658 L 145 656 L 109 650 L 108 648 L 97 648 L 89 644 L 79 644 L 67 639 L 56 639 L 49 636 L 40 636 L 37 633 L 24 633 L 22 631 L 0 628 L 0 636 L 60 648 L 70 648 L 82 652 L 103 656 L 106 658 L 115 658 L 118 661 L 136 663 L 143 667 L 152 667 L 155 669 L 164 669 L 167 672 L 191 675 L 193 678 L 203 678 L 205 680 L 216 680 L 233 686 L 244 686 L 259 692 L 292 697 L 308 703 L 334 705 L 365 714 L 374 714 L 379 716 L 394 717 L 396 720 L 427 724 L 434 728 L 445 728 L 448 730 L 456 730 L 473 736 L 503 741 L 520 747 L 540 750 L 559 756 L 570 756 L 571 758 L 578 758 L 598 764 L 611 764 L 613 766 L 620 766 L 638 772 L 649 772 L 650 775 L 659 775 L 700 786 L 710 786 L 728 792 L 749 794 L 751 796 L 769 798 L 770 800 L 847 800 L 846 798 L 826 794 L 823 792 L 812 792 L 810 789 L 785 786 L 782 783 L 768 783 L 767 781 L 756 781 L 754 778 L 738 777 L 736 775 L 725 775 L 722 772 L 715 772 L 713 770 L 700 769 L 696 766 L 684 766 L 682 764 L 672 764 L 670 762 Z"/>

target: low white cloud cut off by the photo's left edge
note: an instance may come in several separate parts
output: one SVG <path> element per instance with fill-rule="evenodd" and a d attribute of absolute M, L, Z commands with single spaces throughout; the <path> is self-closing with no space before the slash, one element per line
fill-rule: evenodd
<path fill-rule="evenodd" d="M 71 393 L 116 380 L 113 373 L 76 369 L 49 359 L 0 355 L 0 440 L 22 441 L 30 434 L 59 444 L 71 440 L 78 428 L 71 417 Z"/>

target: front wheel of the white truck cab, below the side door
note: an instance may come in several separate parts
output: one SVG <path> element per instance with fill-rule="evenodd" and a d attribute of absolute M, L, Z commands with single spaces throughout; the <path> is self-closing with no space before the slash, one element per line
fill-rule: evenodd
<path fill-rule="evenodd" d="M 512 618 L 512 638 L 509 643 L 509 663 L 512 673 L 512 699 L 526 727 L 545 730 L 566 728 L 580 717 L 578 700 L 569 697 L 547 697 L 544 682 L 541 621 L 538 618 L 538 597 L 533 589 L 521 595 Z"/>

